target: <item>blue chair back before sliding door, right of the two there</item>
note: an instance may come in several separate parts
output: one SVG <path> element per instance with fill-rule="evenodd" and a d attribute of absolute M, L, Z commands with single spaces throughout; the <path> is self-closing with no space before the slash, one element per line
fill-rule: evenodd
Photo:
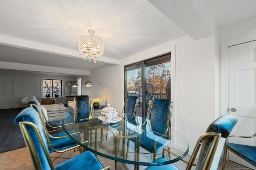
<path fill-rule="evenodd" d="M 151 128 L 152 131 L 158 132 L 160 134 L 165 134 L 166 129 L 169 126 L 171 119 L 171 101 L 169 99 L 157 99 L 153 100 L 152 109 L 150 111 L 149 119 L 152 120 Z M 157 122 L 157 123 L 154 123 Z M 158 126 L 158 123 L 164 125 L 162 127 Z"/>

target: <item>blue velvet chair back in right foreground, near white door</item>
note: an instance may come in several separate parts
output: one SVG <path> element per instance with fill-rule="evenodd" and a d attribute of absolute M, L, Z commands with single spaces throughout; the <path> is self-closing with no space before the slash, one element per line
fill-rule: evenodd
<path fill-rule="evenodd" d="M 226 140 L 226 137 L 228 137 L 233 129 L 233 127 L 236 125 L 237 123 L 237 119 L 236 117 L 234 117 L 233 115 L 222 115 L 220 117 L 218 117 L 216 120 L 214 120 L 209 126 L 208 129 L 206 130 L 207 132 L 216 132 L 216 133 L 221 133 L 221 139 L 219 141 L 218 146 L 220 148 L 219 152 L 218 152 L 218 148 L 216 150 L 215 156 L 214 156 L 214 160 L 212 162 L 212 168 L 211 169 L 216 169 L 218 168 L 218 163 L 220 160 L 220 156 L 222 154 L 222 150 L 223 150 L 223 146 Z M 221 140 L 223 140 L 223 142 L 221 143 Z M 200 156 L 198 158 L 198 162 L 196 164 L 196 169 L 200 169 L 202 166 L 202 163 L 204 162 L 204 159 L 206 157 L 206 154 L 208 152 L 210 146 L 210 142 L 205 141 L 202 144 L 202 149 L 200 152 Z"/>

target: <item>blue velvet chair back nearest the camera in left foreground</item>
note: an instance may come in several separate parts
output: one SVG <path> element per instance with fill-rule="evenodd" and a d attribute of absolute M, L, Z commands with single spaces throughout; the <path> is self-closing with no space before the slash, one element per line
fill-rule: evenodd
<path fill-rule="evenodd" d="M 37 137 L 33 127 L 31 127 L 30 125 L 26 125 L 26 128 L 28 130 L 30 138 L 32 139 L 32 142 L 33 142 L 34 147 L 36 149 L 36 152 L 37 152 L 38 158 L 40 160 L 40 164 L 42 166 L 42 169 L 43 170 L 50 170 L 50 166 L 49 166 L 49 163 L 47 161 L 47 157 L 45 156 L 45 154 L 43 152 L 43 149 L 42 149 L 42 147 L 45 147 L 45 149 L 48 151 L 48 149 L 47 149 L 48 147 L 46 147 L 46 146 L 48 146 L 48 144 L 47 144 L 46 137 L 45 137 L 44 132 L 43 132 L 43 127 L 42 127 L 42 124 L 40 122 L 40 118 L 38 117 L 37 111 L 35 109 L 31 108 L 31 107 L 28 107 L 28 108 L 22 110 L 16 116 L 14 122 L 16 124 L 19 124 L 19 122 L 22 122 L 22 121 L 32 122 L 38 127 L 39 133 L 42 136 L 42 139 L 43 139 L 43 142 L 44 142 L 44 146 L 40 145 L 40 142 L 38 140 L 38 137 Z M 27 145 L 27 143 L 26 143 L 26 145 Z M 27 147 L 28 147 L 28 145 L 27 145 Z M 49 151 L 46 154 L 48 154 L 48 156 L 50 157 Z M 30 155 L 31 155 L 31 153 L 30 153 Z M 33 160 L 33 158 L 32 158 L 32 160 Z"/>

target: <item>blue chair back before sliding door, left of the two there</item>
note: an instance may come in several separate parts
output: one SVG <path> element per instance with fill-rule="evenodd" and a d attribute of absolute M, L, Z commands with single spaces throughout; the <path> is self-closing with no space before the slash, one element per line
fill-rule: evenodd
<path fill-rule="evenodd" d="M 138 106 L 138 103 L 136 104 L 137 100 L 137 96 L 128 96 L 127 98 L 124 113 L 126 113 L 126 118 L 129 121 L 134 121 L 134 116 L 136 115 L 136 113 L 134 113 L 134 110 L 136 109 L 135 107 Z"/>

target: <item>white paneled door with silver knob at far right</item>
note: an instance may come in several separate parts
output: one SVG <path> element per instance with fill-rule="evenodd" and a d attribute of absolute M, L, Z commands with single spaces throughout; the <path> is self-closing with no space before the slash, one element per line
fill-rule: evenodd
<path fill-rule="evenodd" d="M 232 135 L 256 132 L 256 41 L 228 48 L 228 113 L 238 119 Z M 229 142 L 256 146 L 256 140 L 229 137 Z M 256 169 L 229 152 L 229 160 Z"/>

